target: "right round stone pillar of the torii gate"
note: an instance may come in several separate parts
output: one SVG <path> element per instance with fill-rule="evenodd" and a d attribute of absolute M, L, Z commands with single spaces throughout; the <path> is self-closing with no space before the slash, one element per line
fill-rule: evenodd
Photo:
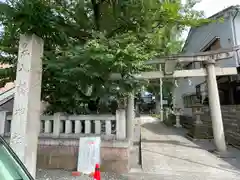
<path fill-rule="evenodd" d="M 205 62 L 205 65 L 207 70 L 208 99 L 212 119 L 214 141 L 219 152 L 226 152 L 227 147 L 225 143 L 222 113 L 215 73 L 215 60 L 208 60 Z"/>

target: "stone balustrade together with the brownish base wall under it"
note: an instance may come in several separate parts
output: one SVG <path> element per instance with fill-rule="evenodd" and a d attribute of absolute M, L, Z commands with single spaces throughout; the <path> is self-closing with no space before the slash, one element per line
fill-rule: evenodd
<path fill-rule="evenodd" d="M 0 135 L 9 142 L 12 115 L 0 111 Z M 119 109 L 116 115 L 41 116 L 38 140 L 37 167 L 40 169 L 76 170 L 79 138 L 101 136 L 101 167 L 105 172 L 129 171 L 129 146 L 126 138 L 126 113 Z"/>

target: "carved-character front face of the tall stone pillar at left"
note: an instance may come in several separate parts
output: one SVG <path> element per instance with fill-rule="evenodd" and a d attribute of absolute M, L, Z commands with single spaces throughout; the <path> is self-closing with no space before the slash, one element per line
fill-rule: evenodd
<path fill-rule="evenodd" d="M 15 84 L 15 96 L 14 96 L 14 107 L 13 107 L 13 119 L 11 127 L 11 140 L 10 144 L 16 151 L 19 158 L 24 162 L 24 146 L 25 132 L 27 127 L 27 91 L 28 91 L 28 78 L 29 78 L 29 64 L 30 53 L 29 53 L 29 39 L 21 37 L 19 44 L 18 63 L 17 63 L 17 77 Z"/>

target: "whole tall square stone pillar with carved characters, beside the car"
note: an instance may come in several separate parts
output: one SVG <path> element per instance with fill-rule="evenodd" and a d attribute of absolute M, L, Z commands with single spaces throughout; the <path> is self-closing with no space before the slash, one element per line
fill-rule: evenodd
<path fill-rule="evenodd" d="M 21 35 L 10 145 L 35 178 L 40 129 L 43 40 Z"/>

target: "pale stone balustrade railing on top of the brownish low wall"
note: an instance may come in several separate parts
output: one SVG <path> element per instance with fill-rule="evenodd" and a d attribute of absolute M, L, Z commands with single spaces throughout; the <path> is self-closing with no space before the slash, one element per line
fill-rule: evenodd
<path fill-rule="evenodd" d="M 0 112 L 0 135 L 9 136 L 12 115 Z M 125 111 L 117 110 L 116 115 L 42 115 L 40 138 L 79 138 L 100 135 L 103 139 L 123 140 L 126 138 Z"/>

